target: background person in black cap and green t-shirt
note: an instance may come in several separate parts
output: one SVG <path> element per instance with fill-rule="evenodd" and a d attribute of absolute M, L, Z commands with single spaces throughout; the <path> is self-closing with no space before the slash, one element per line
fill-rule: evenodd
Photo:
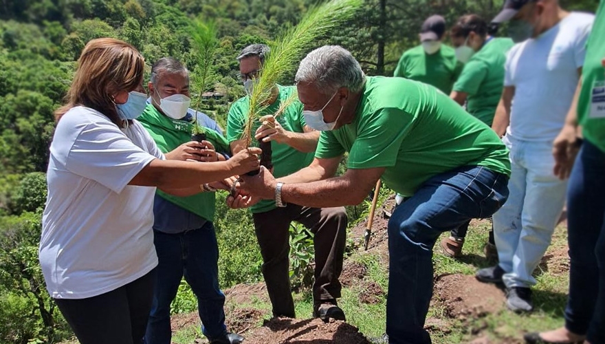
<path fill-rule="evenodd" d="M 441 42 L 445 19 L 438 15 L 428 17 L 419 36 L 421 45 L 401 55 L 393 76 L 417 80 L 450 94 L 463 65 L 456 61 L 454 49 Z"/>

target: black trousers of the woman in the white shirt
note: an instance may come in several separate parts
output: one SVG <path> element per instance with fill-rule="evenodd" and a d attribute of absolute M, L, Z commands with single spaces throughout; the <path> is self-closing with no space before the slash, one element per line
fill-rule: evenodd
<path fill-rule="evenodd" d="M 155 269 L 87 299 L 54 299 L 80 344 L 140 344 L 151 309 Z"/>

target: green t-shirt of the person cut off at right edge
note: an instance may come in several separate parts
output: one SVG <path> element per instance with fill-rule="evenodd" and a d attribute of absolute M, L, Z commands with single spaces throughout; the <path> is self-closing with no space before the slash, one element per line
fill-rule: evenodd
<path fill-rule="evenodd" d="M 577 102 L 578 122 L 584 138 L 605 152 L 605 1 L 601 0 L 597 17 L 588 37 L 582 67 L 582 91 Z"/>

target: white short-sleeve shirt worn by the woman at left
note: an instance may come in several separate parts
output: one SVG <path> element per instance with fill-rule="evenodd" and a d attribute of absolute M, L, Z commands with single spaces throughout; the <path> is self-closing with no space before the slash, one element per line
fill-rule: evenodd
<path fill-rule="evenodd" d="M 50 146 L 39 250 L 51 297 L 104 294 L 157 265 L 155 187 L 128 185 L 155 158 L 164 155 L 136 120 L 120 129 L 88 107 L 63 115 Z"/>

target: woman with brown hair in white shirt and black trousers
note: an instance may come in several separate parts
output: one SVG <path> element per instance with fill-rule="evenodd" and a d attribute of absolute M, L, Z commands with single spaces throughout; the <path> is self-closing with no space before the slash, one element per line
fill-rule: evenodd
<path fill-rule="evenodd" d="M 226 162 L 164 160 L 136 118 L 144 59 L 131 45 L 94 39 L 78 61 L 50 147 L 40 262 L 48 292 L 81 344 L 142 341 L 157 256 L 155 187 L 200 185 L 259 168 L 259 149 Z"/>

